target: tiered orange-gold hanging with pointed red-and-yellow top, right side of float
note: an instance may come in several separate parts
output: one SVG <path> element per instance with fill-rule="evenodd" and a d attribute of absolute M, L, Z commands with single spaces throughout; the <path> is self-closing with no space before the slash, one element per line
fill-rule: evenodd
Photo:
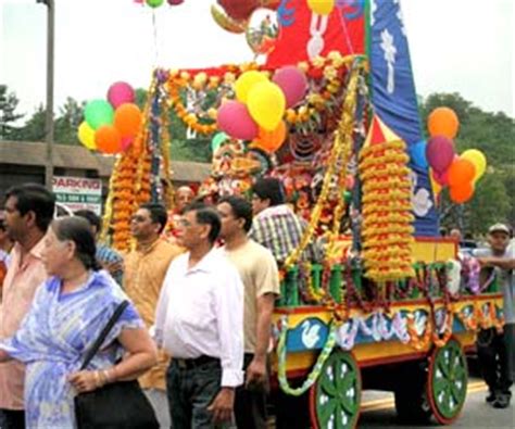
<path fill-rule="evenodd" d="M 377 115 L 360 153 L 365 277 L 378 285 L 413 277 L 413 214 L 406 147 Z"/>

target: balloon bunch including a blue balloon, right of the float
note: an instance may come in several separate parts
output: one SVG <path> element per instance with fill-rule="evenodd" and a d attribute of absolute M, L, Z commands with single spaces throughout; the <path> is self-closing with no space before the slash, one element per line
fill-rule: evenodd
<path fill-rule="evenodd" d="M 461 155 L 454 150 L 460 121 L 452 109 L 437 108 L 428 116 L 430 138 L 411 148 L 411 157 L 422 168 L 430 166 L 429 177 L 434 193 L 438 195 L 449 186 L 449 195 L 456 204 L 463 204 L 474 195 L 475 185 L 487 169 L 487 159 L 477 149 L 468 149 Z"/>

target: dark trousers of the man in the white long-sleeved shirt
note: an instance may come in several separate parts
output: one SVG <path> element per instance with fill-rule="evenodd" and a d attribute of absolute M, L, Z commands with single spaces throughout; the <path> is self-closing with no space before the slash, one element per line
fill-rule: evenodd
<path fill-rule="evenodd" d="M 218 394 L 222 381 L 219 361 L 206 363 L 194 368 L 180 368 L 172 359 L 166 371 L 166 392 L 169 414 L 174 429 L 214 429 L 208 411 Z"/>

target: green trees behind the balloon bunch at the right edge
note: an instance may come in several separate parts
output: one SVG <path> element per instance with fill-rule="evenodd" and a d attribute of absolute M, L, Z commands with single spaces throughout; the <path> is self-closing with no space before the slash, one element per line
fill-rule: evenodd
<path fill-rule="evenodd" d="M 438 106 L 453 109 L 460 118 L 454 139 L 457 153 L 481 150 L 488 160 L 485 176 L 476 184 L 474 198 L 463 206 L 449 201 L 443 191 L 440 220 L 443 226 L 459 226 L 473 236 L 485 234 L 497 222 L 514 222 L 515 121 L 502 112 L 490 113 L 474 106 L 459 93 L 434 93 L 420 105 L 424 124 Z"/>

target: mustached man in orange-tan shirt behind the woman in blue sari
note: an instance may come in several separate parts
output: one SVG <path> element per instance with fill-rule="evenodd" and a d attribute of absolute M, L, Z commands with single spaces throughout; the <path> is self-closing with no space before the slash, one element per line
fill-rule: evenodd
<path fill-rule="evenodd" d="M 130 222 L 136 249 L 125 256 L 124 289 L 148 328 L 154 325 L 155 306 L 172 260 L 183 251 L 161 232 L 166 226 L 166 210 L 161 204 L 143 204 Z M 169 357 L 160 351 L 159 363 L 139 382 L 152 403 L 161 427 L 169 428 L 165 374 Z"/>

